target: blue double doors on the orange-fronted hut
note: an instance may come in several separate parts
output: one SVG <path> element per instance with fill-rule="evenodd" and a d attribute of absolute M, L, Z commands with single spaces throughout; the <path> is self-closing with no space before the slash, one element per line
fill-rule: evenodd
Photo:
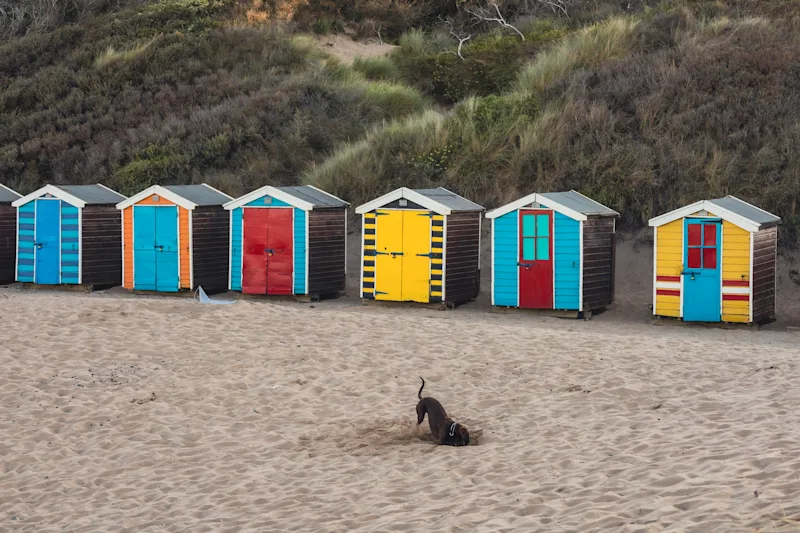
<path fill-rule="evenodd" d="M 133 288 L 178 292 L 178 208 L 133 209 Z"/>

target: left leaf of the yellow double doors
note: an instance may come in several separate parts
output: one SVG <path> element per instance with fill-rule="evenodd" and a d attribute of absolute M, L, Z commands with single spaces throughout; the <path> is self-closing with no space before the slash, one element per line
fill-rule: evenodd
<path fill-rule="evenodd" d="M 401 300 L 403 211 L 375 212 L 375 299 Z"/>

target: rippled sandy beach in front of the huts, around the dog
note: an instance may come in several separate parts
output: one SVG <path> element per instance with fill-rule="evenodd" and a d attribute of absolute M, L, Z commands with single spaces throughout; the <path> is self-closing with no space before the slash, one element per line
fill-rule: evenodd
<path fill-rule="evenodd" d="M 591 321 L 0 289 L 0 532 L 800 531 L 800 334 L 621 277 Z"/>

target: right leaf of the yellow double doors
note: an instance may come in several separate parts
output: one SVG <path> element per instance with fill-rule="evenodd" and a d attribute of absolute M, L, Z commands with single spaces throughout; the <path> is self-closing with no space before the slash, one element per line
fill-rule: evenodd
<path fill-rule="evenodd" d="M 429 302 L 431 213 L 403 211 L 403 301 Z"/>

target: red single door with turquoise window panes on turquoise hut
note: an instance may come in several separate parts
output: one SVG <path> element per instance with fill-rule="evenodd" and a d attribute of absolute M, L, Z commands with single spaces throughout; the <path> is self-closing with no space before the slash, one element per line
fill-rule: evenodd
<path fill-rule="evenodd" d="M 553 212 L 520 211 L 519 306 L 553 308 Z"/>

